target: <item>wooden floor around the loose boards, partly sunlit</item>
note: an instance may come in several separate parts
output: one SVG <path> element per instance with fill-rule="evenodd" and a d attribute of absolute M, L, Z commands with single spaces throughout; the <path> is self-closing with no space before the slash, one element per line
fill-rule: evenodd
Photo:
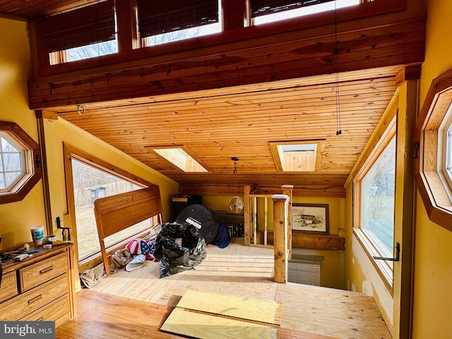
<path fill-rule="evenodd" d="M 373 298 L 274 283 L 273 249 L 237 241 L 225 249 L 208 245 L 196 270 L 159 279 L 159 264 L 146 261 L 133 272 L 103 278 L 77 294 L 78 316 L 57 328 L 56 338 L 180 338 L 160 332 L 160 326 L 186 290 L 282 302 L 280 338 L 391 339 Z"/>

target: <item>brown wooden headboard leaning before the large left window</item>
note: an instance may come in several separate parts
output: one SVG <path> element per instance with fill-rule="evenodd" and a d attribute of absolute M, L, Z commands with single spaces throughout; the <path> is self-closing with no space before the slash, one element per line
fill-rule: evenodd
<path fill-rule="evenodd" d="M 100 251 L 105 273 L 110 274 L 104 239 L 138 222 L 157 216 L 162 222 L 162 201 L 159 186 L 106 196 L 94 201 Z"/>

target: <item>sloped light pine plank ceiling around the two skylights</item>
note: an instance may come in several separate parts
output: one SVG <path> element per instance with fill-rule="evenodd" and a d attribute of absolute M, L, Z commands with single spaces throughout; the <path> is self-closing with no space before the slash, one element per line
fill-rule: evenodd
<path fill-rule="evenodd" d="M 299 196 L 344 196 L 343 184 L 396 90 L 397 67 L 56 107 L 64 119 L 179 182 L 181 193 L 295 186 Z M 340 118 L 342 134 L 336 135 Z M 270 142 L 324 140 L 318 172 L 280 173 Z M 154 146 L 184 145 L 209 172 L 184 173 Z M 233 174 L 231 157 L 239 157 Z M 241 189 L 242 190 L 242 189 Z M 262 190 L 261 190 L 262 191 Z"/>

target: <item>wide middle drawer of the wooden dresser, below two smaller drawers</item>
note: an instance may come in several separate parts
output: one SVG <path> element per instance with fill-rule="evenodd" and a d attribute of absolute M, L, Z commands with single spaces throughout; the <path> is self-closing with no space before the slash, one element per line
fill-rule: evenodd
<path fill-rule="evenodd" d="M 67 273 L 1 304 L 0 320 L 16 321 L 49 302 L 66 295 L 69 290 Z"/>

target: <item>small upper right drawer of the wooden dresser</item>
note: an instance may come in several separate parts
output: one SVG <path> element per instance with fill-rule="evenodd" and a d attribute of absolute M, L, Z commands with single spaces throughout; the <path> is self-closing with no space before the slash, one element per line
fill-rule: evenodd
<path fill-rule="evenodd" d="M 69 259 L 66 253 L 38 261 L 19 270 L 20 292 L 31 290 L 47 280 L 67 272 Z"/>

